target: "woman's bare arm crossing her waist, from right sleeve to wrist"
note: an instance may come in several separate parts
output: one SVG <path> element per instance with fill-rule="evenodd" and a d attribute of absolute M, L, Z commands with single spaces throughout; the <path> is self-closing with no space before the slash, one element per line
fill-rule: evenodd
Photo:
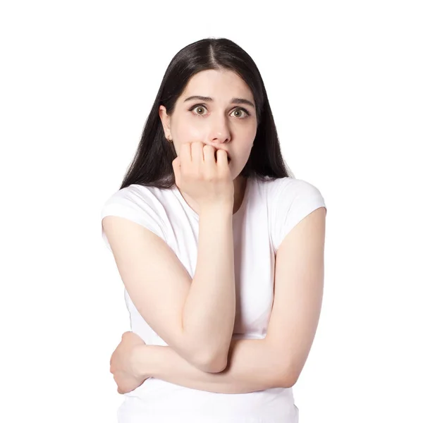
<path fill-rule="evenodd" d="M 316 209 L 283 240 L 276 254 L 274 305 L 263 339 L 231 341 L 219 373 L 197 369 L 171 347 L 147 345 L 134 372 L 215 393 L 248 393 L 293 386 L 317 330 L 324 281 L 326 210 Z"/>

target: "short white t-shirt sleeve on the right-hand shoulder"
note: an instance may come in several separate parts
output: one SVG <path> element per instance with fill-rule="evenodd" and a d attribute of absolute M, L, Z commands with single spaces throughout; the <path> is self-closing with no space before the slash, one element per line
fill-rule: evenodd
<path fill-rule="evenodd" d="M 305 216 L 326 204 L 321 192 L 306 180 L 287 178 L 273 191 L 271 238 L 274 251 Z M 327 209 L 326 209 L 327 211 Z"/>

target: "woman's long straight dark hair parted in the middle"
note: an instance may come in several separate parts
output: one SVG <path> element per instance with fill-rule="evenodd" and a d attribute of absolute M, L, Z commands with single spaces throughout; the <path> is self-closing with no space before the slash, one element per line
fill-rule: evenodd
<path fill-rule="evenodd" d="M 208 69 L 235 72 L 250 87 L 255 99 L 257 133 L 250 157 L 240 174 L 261 180 L 292 176 L 283 161 L 269 99 L 255 62 L 230 39 L 211 37 L 184 47 L 169 63 L 120 189 L 133 183 L 157 188 L 174 186 L 172 161 L 177 154 L 173 143 L 164 135 L 159 106 L 165 106 L 166 113 L 171 116 L 190 78 Z"/>

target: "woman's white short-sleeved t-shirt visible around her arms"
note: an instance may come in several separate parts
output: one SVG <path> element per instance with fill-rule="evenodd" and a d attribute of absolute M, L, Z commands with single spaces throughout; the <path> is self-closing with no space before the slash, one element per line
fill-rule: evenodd
<path fill-rule="evenodd" d="M 247 180 L 243 204 L 233 214 L 237 291 L 233 338 L 266 336 L 273 303 L 276 250 L 286 234 L 319 207 L 326 207 L 324 198 L 305 180 L 290 177 L 264 182 Z M 102 219 L 104 216 L 125 217 L 149 228 L 172 248 L 193 278 L 199 216 L 176 186 L 166 190 L 130 185 L 111 195 L 102 208 Z M 103 230 L 102 237 L 110 248 Z M 145 322 L 125 289 L 124 298 L 131 331 L 147 345 L 167 345 Z M 292 388 L 227 394 L 149 378 L 124 395 L 118 409 L 119 423 L 298 422 Z"/>

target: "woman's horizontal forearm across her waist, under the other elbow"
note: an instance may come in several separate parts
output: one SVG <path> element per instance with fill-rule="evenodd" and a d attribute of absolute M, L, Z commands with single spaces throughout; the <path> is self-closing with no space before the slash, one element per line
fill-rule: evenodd
<path fill-rule="evenodd" d="M 171 347 L 146 345 L 135 355 L 134 372 L 172 384 L 214 393 L 248 393 L 285 387 L 282 363 L 271 357 L 265 339 L 231 341 L 228 366 L 220 373 L 202 372 Z"/>

